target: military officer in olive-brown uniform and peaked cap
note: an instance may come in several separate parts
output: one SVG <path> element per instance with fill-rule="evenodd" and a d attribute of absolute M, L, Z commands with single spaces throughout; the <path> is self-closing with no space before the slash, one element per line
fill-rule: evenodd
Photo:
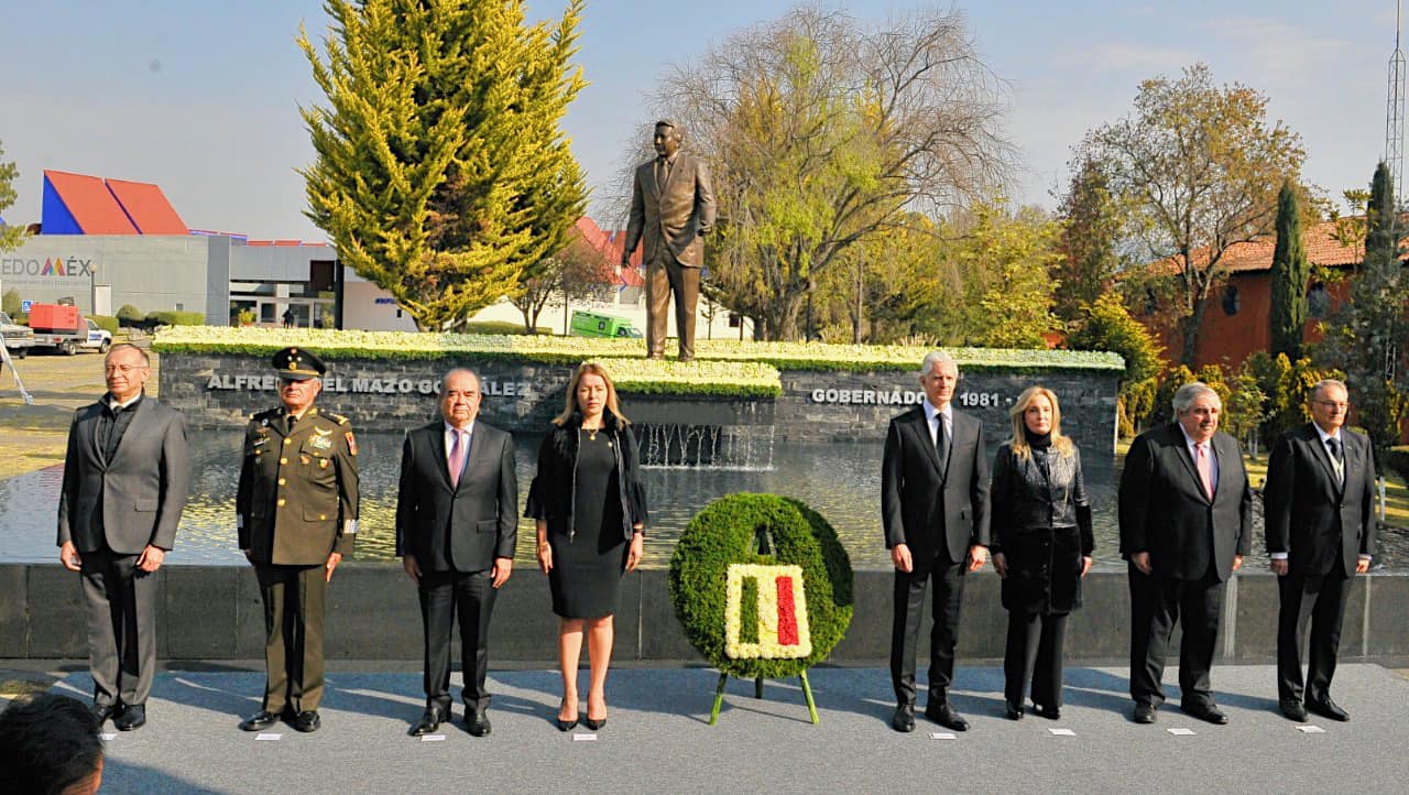
<path fill-rule="evenodd" d="M 259 732 L 280 719 L 317 732 L 323 698 L 323 608 L 333 569 L 356 538 L 356 438 L 347 417 L 313 405 L 327 372 L 311 351 L 273 355 L 278 409 L 249 417 L 235 495 L 240 550 L 255 567 L 265 608 Z"/>

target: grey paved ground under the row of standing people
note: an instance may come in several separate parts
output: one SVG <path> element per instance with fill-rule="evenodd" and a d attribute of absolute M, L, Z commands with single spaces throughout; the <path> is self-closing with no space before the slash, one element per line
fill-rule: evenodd
<path fill-rule="evenodd" d="M 875 668 L 812 672 L 819 726 L 796 684 L 769 684 L 755 701 L 751 684 L 731 681 L 710 727 L 716 677 L 613 671 L 609 725 L 562 734 L 555 674 L 496 671 L 492 736 L 455 726 L 421 741 L 406 736 L 421 709 L 417 674 L 338 672 L 321 732 L 280 726 L 261 740 L 235 723 L 258 709 L 262 674 L 170 671 L 148 703 L 151 723 L 108 739 L 103 791 L 1402 792 L 1409 781 L 1409 681 L 1379 665 L 1341 667 L 1334 695 L 1354 720 L 1315 720 L 1323 733 L 1275 710 L 1268 665 L 1215 670 L 1231 717 L 1223 727 L 1174 708 L 1154 726 L 1131 723 L 1119 668 L 1068 671 L 1062 720 L 1012 723 L 1000 716 L 1002 671 L 964 668 L 954 702 L 974 727 L 952 740 L 934 739 L 943 730 L 923 719 L 913 734 L 890 732 L 888 675 Z M 86 698 L 89 679 L 69 674 L 55 686 Z"/>

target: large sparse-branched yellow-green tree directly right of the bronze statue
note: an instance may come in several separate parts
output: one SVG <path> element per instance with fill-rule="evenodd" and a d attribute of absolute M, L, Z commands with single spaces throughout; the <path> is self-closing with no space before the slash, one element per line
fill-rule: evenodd
<path fill-rule="evenodd" d="M 850 247 L 988 193 L 1012 149 L 957 11 L 867 28 L 799 7 L 674 69 L 655 104 L 714 176 L 710 289 L 769 340 L 802 335 Z"/>

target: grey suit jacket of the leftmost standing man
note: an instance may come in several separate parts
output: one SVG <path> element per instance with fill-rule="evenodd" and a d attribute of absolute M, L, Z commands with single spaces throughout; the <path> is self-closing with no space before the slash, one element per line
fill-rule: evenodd
<path fill-rule="evenodd" d="M 107 547 L 135 555 L 148 544 L 170 550 L 186 506 L 190 467 L 180 412 L 144 396 L 108 461 L 99 448 L 103 403 L 73 413 L 59 495 L 59 544 L 79 553 Z"/>

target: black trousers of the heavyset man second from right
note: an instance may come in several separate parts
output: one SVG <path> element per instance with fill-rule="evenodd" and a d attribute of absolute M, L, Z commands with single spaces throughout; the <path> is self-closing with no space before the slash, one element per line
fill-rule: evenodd
<path fill-rule="evenodd" d="M 1174 624 L 1182 623 L 1179 689 L 1182 703 L 1213 705 L 1213 650 L 1223 612 L 1223 582 L 1210 569 L 1199 579 L 1141 574 L 1130 564 L 1130 696 L 1136 703 L 1164 703 L 1164 660 Z"/>

